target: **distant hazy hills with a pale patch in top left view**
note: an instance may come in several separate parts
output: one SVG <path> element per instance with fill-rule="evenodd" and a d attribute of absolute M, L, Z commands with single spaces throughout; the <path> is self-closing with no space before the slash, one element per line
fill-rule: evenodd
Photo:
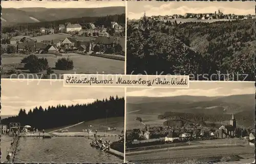
<path fill-rule="evenodd" d="M 125 7 L 104 8 L 2 8 L 3 25 L 55 21 L 80 17 L 102 17 L 124 14 Z"/>

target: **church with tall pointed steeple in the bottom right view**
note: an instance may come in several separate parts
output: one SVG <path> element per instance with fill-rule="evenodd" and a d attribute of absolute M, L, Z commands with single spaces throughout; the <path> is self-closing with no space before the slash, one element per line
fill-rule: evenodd
<path fill-rule="evenodd" d="M 233 138 L 236 133 L 237 128 L 237 121 L 234 119 L 234 114 L 232 114 L 232 118 L 230 120 L 229 125 L 222 125 L 219 130 L 220 131 L 220 138 Z"/>

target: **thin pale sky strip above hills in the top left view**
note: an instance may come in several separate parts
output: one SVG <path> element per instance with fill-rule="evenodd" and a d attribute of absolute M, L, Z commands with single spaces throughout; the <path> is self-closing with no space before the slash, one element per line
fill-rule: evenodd
<path fill-rule="evenodd" d="M 100 8 L 125 6 L 124 1 L 2 1 L 2 8 Z"/>

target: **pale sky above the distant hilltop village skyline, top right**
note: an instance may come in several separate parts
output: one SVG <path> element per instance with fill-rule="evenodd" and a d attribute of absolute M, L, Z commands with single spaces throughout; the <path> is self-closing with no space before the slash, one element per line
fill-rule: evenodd
<path fill-rule="evenodd" d="M 220 11 L 223 14 L 255 15 L 255 1 L 238 2 L 201 2 L 201 1 L 128 1 L 127 17 L 139 19 L 144 11 L 146 16 L 173 15 L 185 13 L 214 13 Z"/>

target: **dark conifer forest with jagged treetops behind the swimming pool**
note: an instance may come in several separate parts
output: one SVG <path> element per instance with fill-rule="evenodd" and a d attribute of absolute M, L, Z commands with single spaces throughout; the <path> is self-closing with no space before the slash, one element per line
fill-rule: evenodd
<path fill-rule="evenodd" d="M 88 104 L 57 105 L 29 110 L 20 109 L 15 117 L 1 120 L 9 125 L 19 122 L 20 126 L 30 125 L 38 130 L 76 124 L 82 121 L 103 119 L 106 117 L 124 117 L 124 98 L 111 96 L 109 99 L 96 100 Z"/>

